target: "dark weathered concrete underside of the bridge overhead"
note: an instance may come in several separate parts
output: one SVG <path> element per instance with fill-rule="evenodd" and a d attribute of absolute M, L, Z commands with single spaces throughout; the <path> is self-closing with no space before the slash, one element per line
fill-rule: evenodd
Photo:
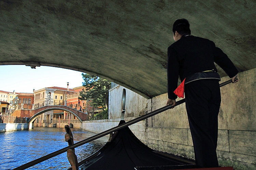
<path fill-rule="evenodd" d="M 188 19 L 192 35 L 213 40 L 240 72 L 255 68 L 255 4 L 255 0 L 1 0 L 0 65 L 97 74 L 151 98 L 167 92 L 167 48 L 174 42 L 176 19 Z"/>

